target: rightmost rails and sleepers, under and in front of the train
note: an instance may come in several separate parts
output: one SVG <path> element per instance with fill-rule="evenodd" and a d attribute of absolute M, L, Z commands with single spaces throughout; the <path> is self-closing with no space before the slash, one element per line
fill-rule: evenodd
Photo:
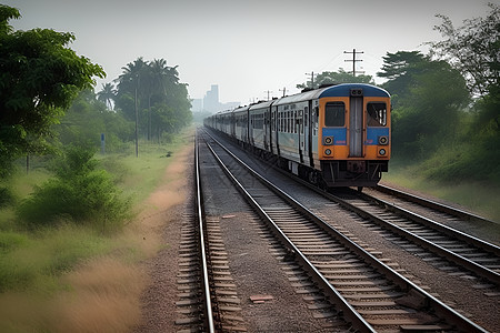
<path fill-rule="evenodd" d="M 389 194 L 379 198 L 379 195 L 368 195 L 359 192 L 348 192 L 341 194 L 331 194 L 317 189 L 316 186 L 302 181 L 296 180 L 314 192 L 323 195 L 328 200 L 339 203 L 343 208 L 353 211 L 369 222 L 377 224 L 384 230 L 409 241 L 419 246 L 412 249 L 413 253 L 421 255 L 427 261 L 432 261 L 436 265 L 446 266 L 456 274 L 466 274 L 461 268 L 477 276 L 487 280 L 494 285 L 500 286 L 500 248 L 496 244 L 484 242 L 464 232 L 447 226 L 446 221 L 474 221 L 476 223 L 494 222 L 483 219 L 479 215 L 451 208 L 444 204 L 432 202 L 423 198 L 403 193 L 388 186 L 378 186 L 378 192 Z M 373 192 L 373 191 L 372 191 Z M 403 199 L 406 203 L 394 204 L 394 196 Z M 418 204 L 419 213 L 410 211 Z M 412 209 L 414 210 L 414 209 Z M 439 222 L 438 222 L 439 221 Z M 397 240 L 401 241 L 401 240 Z M 422 251 L 424 250 L 424 251 Z M 438 255 L 438 258 L 430 254 Z M 450 266 L 449 263 L 454 264 Z M 461 270 L 461 271 L 460 271 Z M 488 286 L 488 282 L 483 286 Z"/>

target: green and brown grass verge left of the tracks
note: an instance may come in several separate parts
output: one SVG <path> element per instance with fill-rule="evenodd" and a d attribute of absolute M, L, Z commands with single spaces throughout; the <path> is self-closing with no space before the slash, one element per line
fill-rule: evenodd
<path fill-rule="evenodd" d="M 169 144 L 141 144 L 139 158 L 132 147 L 127 155 L 99 160 L 133 195 L 139 214 L 151 209 L 144 205 L 151 192 L 179 178 L 164 172 L 191 138 L 192 129 Z M 49 176 L 42 169 L 20 173 L 11 188 L 21 199 Z M 72 224 L 28 232 L 12 208 L 1 209 L 0 332 L 130 331 L 141 317 L 140 294 L 148 283 L 141 261 L 168 245 L 151 241 L 160 238 L 161 225 L 143 221 L 138 215 L 112 235 Z"/>

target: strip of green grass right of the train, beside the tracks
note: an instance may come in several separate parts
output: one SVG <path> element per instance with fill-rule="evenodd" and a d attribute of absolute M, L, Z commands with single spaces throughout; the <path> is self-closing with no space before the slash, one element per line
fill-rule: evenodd
<path fill-rule="evenodd" d="M 428 193 L 448 202 L 453 202 L 466 209 L 500 222 L 500 185 L 494 183 L 457 180 L 443 182 L 426 176 L 424 165 L 406 164 L 391 161 L 389 172 L 382 176 L 382 183 L 397 184 L 422 193 Z"/>

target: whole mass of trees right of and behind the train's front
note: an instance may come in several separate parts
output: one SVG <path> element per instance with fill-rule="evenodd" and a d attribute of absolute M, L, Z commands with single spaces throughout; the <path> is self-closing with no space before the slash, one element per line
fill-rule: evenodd
<path fill-rule="evenodd" d="M 500 183 L 500 10 L 489 7 L 460 28 L 438 16 L 442 41 L 428 43 L 428 54 L 387 53 L 377 73 L 392 97 L 393 161 L 419 164 L 424 176 Z M 313 85 L 347 82 L 373 80 L 339 70 L 318 74 Z"/>

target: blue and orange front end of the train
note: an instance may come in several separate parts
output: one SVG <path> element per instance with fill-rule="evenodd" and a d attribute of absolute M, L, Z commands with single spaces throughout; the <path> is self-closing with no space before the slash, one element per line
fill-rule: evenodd
<path fill-rule="evenodd" d="M 319 99 L 318 158 L 327 186 L 374 186 L 390 159 L 390 98 L 370 85 Z"/>

